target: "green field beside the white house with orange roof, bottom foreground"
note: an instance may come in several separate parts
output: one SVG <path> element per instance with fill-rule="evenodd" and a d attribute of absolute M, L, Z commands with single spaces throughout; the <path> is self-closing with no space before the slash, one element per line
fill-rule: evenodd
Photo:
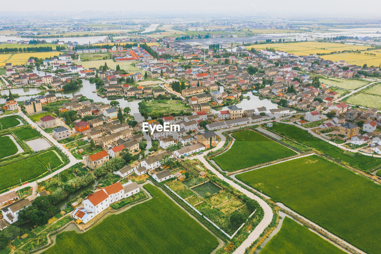
<path fill-rule="evenodd" d="M 144 188 L 152 199 L 107 217 L 85 233 L 60 233 L 57 243 L 43 253 L 209 254 L 218 246 L 211 233 L 158 188 Z"/>

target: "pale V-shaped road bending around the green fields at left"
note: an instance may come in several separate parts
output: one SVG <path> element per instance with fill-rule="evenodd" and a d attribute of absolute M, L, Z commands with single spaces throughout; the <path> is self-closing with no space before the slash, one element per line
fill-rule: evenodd
<path fill-rule="evenodd" d="M 37 185 L 37 182 L 42 182 L 42 181 L 45 181 L 51 177 L 53 177 L 54 175 L 58 174 L 58 173 L 61 173 L 62 171 L 64 171 L 65 169 L 68 169 L 69 167 L 71 166 L 74 166 L 76 163 L 82 161 L 82 160 L 78 160 L 77 158 L 75 158 L 70 152 L 69 150 L 67 150 L 66 148 L 64 148 L 64 146 L 62 146 L 60 143 L 57 142 L 57 140 L 55 140 L 52 136 L 50 136 L 48 133 L 46 133 L 43 129 L 40 128 L 40 126 L 38 126 L 35 122 L 33 122 L 32 120 L 29 119 L 29 117 L 27 117 L 24 113 L 22 113 L 21 109 L 19 108 L 19 113 L 17 113 L 19 116 L 21 116 L 22 118 L 24 118 L 32 127 L 34 127 L 36 130 L 38 130 L 47 140 L 49 140 L 54 146 L 58 147 L 64 154 L 66 154 L 68 156 L 68 159 L 69 159 L 69 164 L 65 165 L 64 167 L 62 167 L 61 169 L 58 169 L 56 171 L 54 171 L 53 173 L 49 174 L 49 175 L 46 175 L 45 177 L 43 178 L 40 178 L 38 179 L 37 181 L 34 181 L 34 182 L 30 182 L 30 183 L 27 183 L 27 184 L 24 184 L 22 186 L 18 186 L 16 188 L 13 188 L 5 193 L 9 193 L 11 191 L 18 191 L 18 190 L 21 190 L 22 188 L 25 188 L 25 187 L 34 187 Z M 65 158 L 62 158 L 63 160 Z M 32 166 L 32 165 L 31 165 Z M 21 179 L 22 180 L 22 179 Z M 5 194 L 3 193 L 3 194 Z"/>

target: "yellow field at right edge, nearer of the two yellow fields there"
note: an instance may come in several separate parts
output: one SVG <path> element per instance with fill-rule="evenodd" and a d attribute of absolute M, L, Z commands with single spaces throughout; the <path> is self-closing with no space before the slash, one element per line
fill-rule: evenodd
<path fill-rule="evenodd" d="M 366 55 L 365 53 L 375 54 L 374 55 Z M 340 53 L 335 55 L 324 55 L 322 56 L 325 60 L 331 60 L 333 62 L 344 60 L 348 64 L 356 64 L 359 66 L 363 66 L 363 64 L 367 64 L 368 66 L 379 66 L 381 63 L 381 49 L 376 50 L 368 50 L 358 53 Z"/>

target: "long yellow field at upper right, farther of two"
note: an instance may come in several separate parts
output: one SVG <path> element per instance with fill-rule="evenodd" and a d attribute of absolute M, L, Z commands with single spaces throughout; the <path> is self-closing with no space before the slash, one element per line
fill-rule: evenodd
<path fill-rule="evenodd" d="M 291 43 L 266 43 L 246 46 L 247 49 L 266 49 L 275 48 L 277 50 L 282 50 L 287 53 L 293 53 L 295 55 L 303 56 L 310 54 L 328 54 L 343 50 L 366 50 L 369 46 L 363 45 L 349 45 L 341 43 L 330 43 L 330 42 L 291 42 Z M 326 55 L 325 55 L 326 56 Z M 325 56 L 322 56 L 324 59 Z M 330 59 L 326 59 L 330 60 Z M 344 60 L 342 58 L 338 60 Z M 336 61 L 338 61 L 336 60 Z"/>

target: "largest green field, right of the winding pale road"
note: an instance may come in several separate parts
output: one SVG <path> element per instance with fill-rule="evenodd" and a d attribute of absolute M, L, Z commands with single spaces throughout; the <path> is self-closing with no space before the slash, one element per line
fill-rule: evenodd
<path fill-rule="evenodd" d="M 381 248 L 381 224 L 374 223 L 381 186 L 351 170 L 311 155 L 244 172 L 237 179 L 368 253 Z"/>

